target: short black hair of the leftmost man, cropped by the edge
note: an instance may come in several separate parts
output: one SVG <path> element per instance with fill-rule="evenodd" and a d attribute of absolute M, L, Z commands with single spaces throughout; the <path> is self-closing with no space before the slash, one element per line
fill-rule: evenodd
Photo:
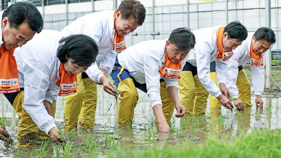
<path fill-rule="evenodd" d="M 18 29 L 23 23 L 27 22 L 32 31 L 40 33 L 43 28 L 43 19 L 37 8 L 30 2 L 17 2 L 4 11 L 2 20 L 8 17 L 10 27 Z"/>

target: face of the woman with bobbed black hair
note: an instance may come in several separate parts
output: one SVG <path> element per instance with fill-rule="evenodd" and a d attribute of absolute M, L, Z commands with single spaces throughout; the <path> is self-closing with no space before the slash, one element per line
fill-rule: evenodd
<path fill-rule="evenodd" d="M 73 74 L 78 74 L 80 72 L 85 72 L 87 70 L 87 67 L 81 67 L 78 66 L 77 64 L 72 63 L 73 60 L 71 58 L 67 58 L 67 62 L 63 63 L 64 70 L 66 71 L 67 74 L 73 75 Z"/>

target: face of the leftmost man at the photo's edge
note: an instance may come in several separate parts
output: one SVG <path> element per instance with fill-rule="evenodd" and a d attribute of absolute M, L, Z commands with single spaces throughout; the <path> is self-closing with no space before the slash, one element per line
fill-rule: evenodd
<path fill-rule="evenodd" d="M 10 21 L 8 17 L 4 17 L 2 20 L 2 40 L 4 46 L 8 50 L 13 50 L 17 47 L 25 45 L 32 37 L 36 31 L 32 31 L 29 28 L 27 22 L 23 22 L 19 25 L 18 29 L 10 27 Z"/>

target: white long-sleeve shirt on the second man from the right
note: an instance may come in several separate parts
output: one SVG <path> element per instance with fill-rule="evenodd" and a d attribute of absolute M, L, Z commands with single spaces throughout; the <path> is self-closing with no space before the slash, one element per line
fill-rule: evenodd
<path fill-rule="evenodd" d="M 196 44 L 194 49 L 186 56 L 186 62 L 197 66 L 197 74 L 205 89 L 213 96 L 218 97 L 221 92 L 210 76 L 210 63 L 216 62 L 216 76 L 218 83 L 226 83 L 227 62 L 216 59 L 218 47 L 216 44 L 216 31 L 221 26 L 202 28 L 192 31 L 195 35 Z"/>

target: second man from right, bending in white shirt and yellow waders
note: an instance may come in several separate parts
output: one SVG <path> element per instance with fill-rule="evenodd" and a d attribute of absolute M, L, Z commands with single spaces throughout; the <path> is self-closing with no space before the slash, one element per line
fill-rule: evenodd
<path fill-rule="evenodd" d="M 224 26 L 215 26 L 194 30 L 195 48 L 186 57 L 186 64 L 179 80 L 181 102 L 187 113 L 205 113 L 208 93 L 215 96 L 226 108 L 232 109 L 230 92 L 225 87 L 227 60 L 247 38 L 247 29 L 238 21 Z M 210 77 L 210 62 L 216 62 L 217 81 L 220 88 Z M 207 91 L 206 91 L 207 90 Z"/>

